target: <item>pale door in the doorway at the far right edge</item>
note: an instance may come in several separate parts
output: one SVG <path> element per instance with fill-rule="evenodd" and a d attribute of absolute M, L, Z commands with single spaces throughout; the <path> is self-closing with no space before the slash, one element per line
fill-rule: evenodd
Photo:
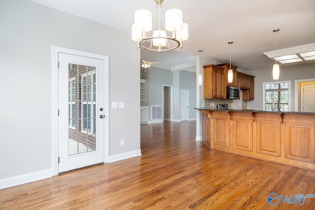
<path fill-rule="evenodd" d="M 301 88 L 303 88 L 302 111 L 315 112 L 315 84 L 305 84 Z"/>

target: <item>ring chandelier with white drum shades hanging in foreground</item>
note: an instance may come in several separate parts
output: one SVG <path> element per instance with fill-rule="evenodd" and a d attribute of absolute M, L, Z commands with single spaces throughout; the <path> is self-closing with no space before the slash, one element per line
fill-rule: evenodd
<path fill-rule="evenodd" d="M 160 53 L 182 48 L 182 42 L 188 39 L 188 24 L 183 23 L 182 10 L 175 8 L 165 12 L 163 1 L 155 0 L 153 13 L 146 9 L 135 11 L 131 39 L 137 42 L 138 48 Z"/>

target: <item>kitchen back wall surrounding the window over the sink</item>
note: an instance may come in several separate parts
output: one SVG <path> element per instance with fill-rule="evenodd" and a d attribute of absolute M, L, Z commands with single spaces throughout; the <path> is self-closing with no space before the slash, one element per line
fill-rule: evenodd
<path fill-rule="evenodd" d="M 255 91 L 254 96 L 255 99 L 252 101 L 248 101 L 247 108 L 248 109 L 262 109 L 263 101 L 262 101 L 262 83 L 264 82 L 273 82 L 277 80 L 273 80 L 272 78 L 272 66 L 270 69 L 262 69 L 262 70 L 253 70 L 246 72 L 247 74 L 251 74 L 255 76 Z M 291 81 L 291 111 L 294 111 L 295 105 L 294 101 L 297 99 L 297 96 L 294 95 L 295 90 L 295 80 L 301 79 L 313 79 L 315 78 L 315 62 L 313 63 L 305 63 L 305 64 L 297 64 L 297 65 L 280 65 L 280 77 L 278 81 Z"/>

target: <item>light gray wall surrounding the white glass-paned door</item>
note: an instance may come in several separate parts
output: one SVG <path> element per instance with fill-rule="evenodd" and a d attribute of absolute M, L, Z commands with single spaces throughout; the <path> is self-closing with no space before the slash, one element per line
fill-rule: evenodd
<path fill-rule="evenodd" d="M 109 56 L 109 102 L 125 102 L 109 106 L 109 154 L 140 150 L 140 50 L 129 33 L 27 0 L 0 1 L 0 29 L 0 180 L 52 168 L 52 45 Z"/>

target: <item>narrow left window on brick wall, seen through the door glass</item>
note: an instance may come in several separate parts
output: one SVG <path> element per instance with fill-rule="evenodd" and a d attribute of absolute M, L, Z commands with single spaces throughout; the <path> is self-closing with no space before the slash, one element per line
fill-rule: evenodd
<path fill-rule="evenodd" d="M 75 128 L 75 78 L 68 82 L 68 125 Z"/>

